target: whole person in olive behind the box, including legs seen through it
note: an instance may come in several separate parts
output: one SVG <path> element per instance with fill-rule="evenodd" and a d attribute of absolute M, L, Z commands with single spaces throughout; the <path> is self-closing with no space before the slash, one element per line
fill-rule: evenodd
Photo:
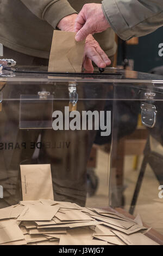
<path fill-rule="evenodd" d="M 54 29 L 74 32 L 74 23 L 77 13 L 83 5 L 90 0 L 0 0 L 0 43 L 4 45 L 4 58 L 14 58 L 17 64 L 25 66 L 48 66 Z M 96 0 L 96 3 L 101 1 Z M 102 50 L 103 49 L 103 50 Z M 93 70 L 92 61 L 98 67 L 106 67 L 114 58 L 116 52 L 115 34 L 111 28 L 105 32 L 88 35 L 85 45 L 85 58 L 83 66 L 86 70 Z M 110 58 L 110 59 L 109 59 Z M 41 67 L 43 69 L 43 67 Z M 63 70 L 64 71 L 64 70 Z M 86 84 L 87 85 L 87 84 Z M 84 93 L 87 95 L 87 87 Z M 29 86 L 16 84 L 5 86 L 3 92 L 10 97 L 20 97 L 21 94 L 35 95 L 42 90 L 41 85 Z M 46 90 L 55 90 L 51 84 L 46 84 Z M 57 89 L 56 89 L 57 90 Z M 59 88 L 58 88 L 59 90 Z M 67 98 L 67 87 L 62 88 L 62 97 Z M 80 90 L 82 90 L 80 88 Z M 92 91 L 95 88 L 93 86 Z M 91 92 L 90 95 L 91 95 Z M 60 93 L 60 90 L 59 90 Z M 99 86 L 98 97 L 103 90 Z M 78 103 L 78 110 L 90 109 L 103 110 L 99 100 L 93 102 L 87 100 L 83 106 L 82 101 Z M 17 204 L 22 200 L 20 164 L 51 164 L 54 198 L 58 201 L 72 201 L 84 206 L 87 195 L 87 170 L 86 164 L 89 158 L 91 146 L 96 131 L 54 131 L 52 129 L 20 129 L 20 101 L 11 100 L 10 104 L 3 104 L 1 112 L 0 141 L 15 144 L 31 142 L 47 144 L 51 141 L 53 145 L 65 140 L 70 147 L 64 149 L 41 148 L 35 156 L 34 148 L 22 150 L 5 151 L 0 154 L 0 184 L 4 188 L 4 199 L 0 200 L 0 208 Z M 70 100 L 55 101 L 54 110 L 62 110 L 68 106 Z M 104 103 L 104 101 L 102 101 Z M 30 104 L 28 112 L 32 112 Z M 24 113 L 25 114 L 25 113 Z M 37 184 L 36 184 L 37 185 Z"/>

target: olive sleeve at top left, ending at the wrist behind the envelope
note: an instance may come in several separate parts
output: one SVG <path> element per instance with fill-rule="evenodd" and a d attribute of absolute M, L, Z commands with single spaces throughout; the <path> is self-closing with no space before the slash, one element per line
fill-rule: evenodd
<path fill-rule="evenodd" d="M 20 0 L 37 17 L 56 28 L 58 22 L 73 13 L 77 13 L 67 0 Z"/>

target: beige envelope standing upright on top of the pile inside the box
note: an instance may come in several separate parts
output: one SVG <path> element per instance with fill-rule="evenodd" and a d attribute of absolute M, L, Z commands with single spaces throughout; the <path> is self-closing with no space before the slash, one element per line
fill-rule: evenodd
<path fill-rule="evenodd" d="M 20 165 L 23 200 L 54 200 L 50 164 Z"/>

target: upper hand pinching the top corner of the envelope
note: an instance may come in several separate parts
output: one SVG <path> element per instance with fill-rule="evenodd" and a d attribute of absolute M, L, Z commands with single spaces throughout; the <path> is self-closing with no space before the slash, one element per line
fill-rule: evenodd
<path fill-rule="evenodd" d="M 76 40 L 82 41 L 87 35 L 100 33 L 110 27 L 102 10 L 102 4 L 85 4 L 75 22 Z"/>

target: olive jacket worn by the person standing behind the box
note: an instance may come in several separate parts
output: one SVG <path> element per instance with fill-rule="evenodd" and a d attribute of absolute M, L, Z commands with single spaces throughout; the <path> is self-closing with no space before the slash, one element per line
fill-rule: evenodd
<path fill-rule="evenodd" d="M 27 55 L 49 58 L 53 30 L 58 22 L 91 2 L 102 1 L 0 0 L 0 43 Z M 95 38 L 108 56 L 115 54 L 115 34 L 111 28 Z"/>

